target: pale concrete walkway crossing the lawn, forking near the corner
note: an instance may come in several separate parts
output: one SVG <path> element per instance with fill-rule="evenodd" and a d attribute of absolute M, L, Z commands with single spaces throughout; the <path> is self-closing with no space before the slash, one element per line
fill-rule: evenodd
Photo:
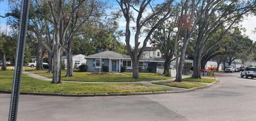
<path fill-rule="evenodd" d="M 39 79 L 39 80 L 52 81 L 51 78 L 47 78 L 47 77 L 44 77 L 44 76 L 33 74 L 31 72 L 28 72 L 28 71 L 23 71 L 23 74 L 26 74 L 30 77 L 33 77 L 33 78 L 36 78 L 36 79 Z M 130 75 L 127 75 L 127 76 L 130 76 Z M 182 75 L 182 78 L 187 78 L 187 77 L 191 77 L 191 75 Z M 175 80 L 175 78 L 163 79 L 163 80 L 142 81 L 142 82 L 76 82 L 76 81 L 69 81 L 69 80 L 68 81 L 67 80 L 62 80 L 62 82 L 65 82 L 65 83 L 87 83 L 87 84 L 131 84 L 131 83 L 139 83 L 139 84 L 147 84 L 147 85 L 170 88 L 173 91 L 179 91 L 179 92 L 189 90 L 189 88 L 177 88 L 177 87 L 171 87 L 171 86 L 166 86 L 166 85 L 153 84 L 154 82 L 159 82 L 159 81 L 166 82 L 166 81 L 173 81 L 173 80 Z M 208 85 L 210 83 L 204 83 L 204 84 Z"/>

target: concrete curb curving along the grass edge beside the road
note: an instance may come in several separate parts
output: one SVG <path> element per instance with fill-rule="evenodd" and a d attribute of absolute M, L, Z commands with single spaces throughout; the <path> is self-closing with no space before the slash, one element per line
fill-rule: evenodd
<path fill-rule="evenodd" d="M 215 78 L 215 82 L 204 85 L 204 86 L 199 86 L 199 87 L 194 87 L 190 88 L 186 91 L 157 91 L 157 92 L 132 92 L 132 93 L 95 93 L 95 94 L 65 94 L 65 93 L 41 93 L 41 92 L 20 92 L 20 94 L 26 94 L 26 95 L 45 95 L 45 96 L 69 96 L 69 97 L 88 97 L 88 96 L 127 96 L 127 95 L 148 95 L 148 94 L 167 94 L 167 93 L 184 93 L 184 92 L 191 92 L 195 91 L 197 89 L 203 89 L 203 88 L 208 88 L 211 87 L 215 84 L 219 83 L 219 78 Z M 11 94 L 11 91 L 6 91 L 6 90 L 0 90 L 0 93 L 3 94 Z"/>

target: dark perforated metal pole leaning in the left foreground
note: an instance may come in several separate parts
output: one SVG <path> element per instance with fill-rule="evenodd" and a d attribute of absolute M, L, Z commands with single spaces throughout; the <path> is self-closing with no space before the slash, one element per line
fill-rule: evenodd
<path fill-rule="evenodd" d="M 17 120 L 19 95 L 20 95 L 20 83 L 21 83 L 22 66 L 23 66 L 23 58 L 25 53 L 26 34 L 27 34 L 26 31 L 27 31 L 27 24 L 28 24 L 28 12 L 29 12 L 28 10 L 29 10 L 29 0 L 22 0 L 19 35 L 18 35 L 18 42 L 17 42 L 15 69 L 14 69 L 13 85 L 12 85 L 12 96 L 11 96 L 9 119 L 8 119 L 9 121 Z"/>

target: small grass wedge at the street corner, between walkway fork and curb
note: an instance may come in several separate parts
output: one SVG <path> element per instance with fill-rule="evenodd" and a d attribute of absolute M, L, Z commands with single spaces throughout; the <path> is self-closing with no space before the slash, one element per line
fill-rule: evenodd
<path fill-rule="evenodd" d="M 205 84 L 196 83 L 196 82 L 174 82 L 174 81 L 162 81 L 162 82 L 154 82 L 154 84 L 178 87 L 178 88 L 194 88 L 199 86 L 204 86 Z"/>

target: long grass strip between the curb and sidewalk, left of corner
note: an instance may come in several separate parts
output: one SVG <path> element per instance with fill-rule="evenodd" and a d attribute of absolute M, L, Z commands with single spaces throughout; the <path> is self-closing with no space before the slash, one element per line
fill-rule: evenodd
<path fill-rule="evenodd" d="M 0 89 L 11 90 L 13 71 L 0 71 Z M 66 93 L 66 94 L 94 94 L 94 93 L 131 93 L 131 92 L 155 92 L 167 91 L 168 88 L 145 84 L 85 84 L 85 83 L 62 83 L 38 80 L 27 75 L 22 75 L 22 92 L 42 93 Z"/>

